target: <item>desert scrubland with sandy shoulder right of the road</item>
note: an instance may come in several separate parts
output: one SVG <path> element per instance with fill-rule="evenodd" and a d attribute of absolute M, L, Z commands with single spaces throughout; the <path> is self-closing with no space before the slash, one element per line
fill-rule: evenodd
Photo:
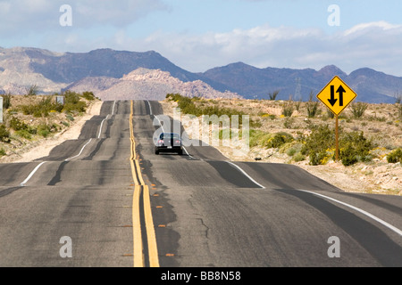
<path fill-rule="evenodd" d="M 295 164 L 348 191 L 402 195 L 402 104 L 354 102 L 339 115 L 339 162 L 335 161 L 335 118 L 314 93 L 306 102 L 183 98 L 168 94 L 163 111 L 249 115 L 249 151 L 218 147 L 234 160 Z M 189 126 L 189 125 L 188 125 Z M 222 131 L 221 131 L 222 132 Z M 220 136 L 222 138 L 222 136 Z"/>

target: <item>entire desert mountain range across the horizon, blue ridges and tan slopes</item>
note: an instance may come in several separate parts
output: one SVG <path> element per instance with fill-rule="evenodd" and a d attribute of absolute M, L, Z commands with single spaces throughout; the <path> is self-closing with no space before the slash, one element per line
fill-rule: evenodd
<path fill-rule="evenodd" d="M 402 77 L 369 68 L 346 74 L 334 65 L 320 70 L 259 69 L 235 62 L 194 73 L 154 51 L 98 49 L 89 53 L 54 53 L 38 48 L 0 48 L 0 93 L 12 94 L 25 94 L 29 86 L 37 85 L 42 93 L 85 87 L 104 100 L 117 99 L 117 94 L 124 94 L 121 98 L 132 94 L 135 99 L 159 99 L 164 92 L 171 91 L 209 98 L 266 99 L 278 90 L 278 99 L 292 96 L 294 100 L 306 101 L 336 75 L 356 92 L 356 101 L 394 103 L 402 89 Z"/>

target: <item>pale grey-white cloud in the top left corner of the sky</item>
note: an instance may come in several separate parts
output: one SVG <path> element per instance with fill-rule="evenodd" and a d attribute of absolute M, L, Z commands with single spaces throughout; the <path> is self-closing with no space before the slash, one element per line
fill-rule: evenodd
<path fill-rule="evenodd" d="M 0 37 L 60 29 L 63 4 L 71 5 L 74 28 L 121 28 L 149 12 L 167 9 L 162 0 L 0 0 Z"/>

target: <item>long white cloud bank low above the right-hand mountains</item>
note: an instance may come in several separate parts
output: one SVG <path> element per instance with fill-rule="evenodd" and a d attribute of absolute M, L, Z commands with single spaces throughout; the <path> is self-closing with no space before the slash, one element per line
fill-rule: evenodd
<path fill-rule="evenodd" d="M 357 25 L 328 35 L 319 28 L 268 25 L 202 35 L 155 32 L 131 48 L 152 49 L 190 71 L 235 61 L 259 68 L 321 69 L 335 64 L 345 72 L 369 67 L 402 76 L 402 26 L 388 22 Z"/>

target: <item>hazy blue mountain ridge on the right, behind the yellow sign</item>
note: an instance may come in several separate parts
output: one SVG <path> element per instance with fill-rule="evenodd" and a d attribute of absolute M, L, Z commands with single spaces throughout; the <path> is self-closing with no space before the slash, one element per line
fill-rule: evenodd
<path fill-rule="evenodd" d="M 230 91 L 245 98 L 268 98 L 268 94 L 279 90 L 279 99 L 293 99 L 300 85 L 302 100 L 309 94 L 318 94 L 334 76 L 339 76 L 357 94 L 356 101 L 372 103 L 394 103 L 395 95 L 402 90 L 402 77 L 386 75 L 373 69 L 357 69 L 349 75 L 334 65 L 318 71 L 314 69 L 257 69 L 243 62 L 207 70 L 205 77 L 226 85 Z"/>

